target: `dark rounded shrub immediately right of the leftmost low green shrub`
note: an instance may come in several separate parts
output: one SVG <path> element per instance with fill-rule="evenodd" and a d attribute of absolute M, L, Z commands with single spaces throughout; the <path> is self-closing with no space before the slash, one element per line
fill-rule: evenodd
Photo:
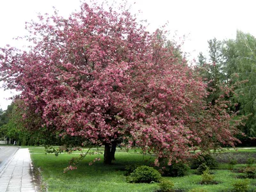
<path fill-rule="evenodd" d="M 163 170 L 164 176 L 170 177 L 183 177 L 188 175 L 189 166 L 185 163 L 173 163 L 170 166 L 167 166 L 166 169 Z"/>

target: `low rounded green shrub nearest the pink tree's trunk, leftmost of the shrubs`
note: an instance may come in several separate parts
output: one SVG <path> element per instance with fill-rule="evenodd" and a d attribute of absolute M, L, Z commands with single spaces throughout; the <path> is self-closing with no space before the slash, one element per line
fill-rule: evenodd
<path fill-rule="evenodd" d="M 159 182 L 161 179 L 161 174 L 157 172 L 154 168 L 150 166 L 139 166 L 131 173 L 131 175 L 127 176 L 128 182 Z"/>

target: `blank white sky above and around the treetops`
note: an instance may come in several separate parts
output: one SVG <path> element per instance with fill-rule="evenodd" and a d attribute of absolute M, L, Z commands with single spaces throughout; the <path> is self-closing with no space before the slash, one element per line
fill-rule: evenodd
<path fill-rule="evenodd" d="M 103 1 L 103 0 L 101 0 Z M 110 0 L 111 2 L 112 0 Z M 118 0 L 116 0 L 118 2 Z M 147 19 L 150 30 L 163 26 L 177 36 L 186 35 L 182 50 L 196 59 L 200 51 L 207 53 L 207 40 L 235 38 L 236 30 L 256 36 L 255 0 L 127 0 L 132 12 L 141 10 L 139 20 Z M 136 4 L 133 4 L 136 2 Z M 52 6 L 67 17 L 79 10 L 79 0 L 0 0 L 0 47 L 10 44 L 22 47 L 24 42 L 12 40 L 26 34 L 25 22 L 36 20 L 40 13 L 52 13 Z M 6 109 L 12 95 L 0 89 L 0 108 Z"/>

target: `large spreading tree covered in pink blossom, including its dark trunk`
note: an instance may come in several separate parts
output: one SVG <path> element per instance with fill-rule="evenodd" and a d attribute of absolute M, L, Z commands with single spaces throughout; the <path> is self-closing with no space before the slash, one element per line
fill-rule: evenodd
<path fill-rule="evenodd" d="M 1 49 L 0 74 L 47 129 L 105 145 L 104 163 L 121 141 L 169 163 L 237 141 L 227 105 L 207 105 L 205 84 L 159 30 L 86 3 L 39 19 L 27 25 L 29 51 Z"/>

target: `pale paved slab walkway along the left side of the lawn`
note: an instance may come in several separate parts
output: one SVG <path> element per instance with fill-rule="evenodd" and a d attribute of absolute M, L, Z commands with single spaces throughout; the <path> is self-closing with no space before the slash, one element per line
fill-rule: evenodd
<path fill-rule="evenodd" d="M 0 151 L 1 152 L 1 151 Z M 31 159 L 28 148 L 17 150 L 0 172 L 1 192 L 35 192 L 31 175 Z"/>

